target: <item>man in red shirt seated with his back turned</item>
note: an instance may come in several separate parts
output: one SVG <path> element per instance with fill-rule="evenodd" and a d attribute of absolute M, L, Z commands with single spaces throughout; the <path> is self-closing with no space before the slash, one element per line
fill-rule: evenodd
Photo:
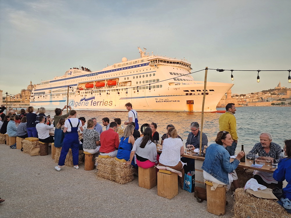
<path fill-rule="evenodd" d="M 116 122 L 111 122 L 109 124 L 109 129 L 101 133 L 100 155 L 116 157 L 119 146 L 118 133 L 115 132 L 116 126 Z"/>

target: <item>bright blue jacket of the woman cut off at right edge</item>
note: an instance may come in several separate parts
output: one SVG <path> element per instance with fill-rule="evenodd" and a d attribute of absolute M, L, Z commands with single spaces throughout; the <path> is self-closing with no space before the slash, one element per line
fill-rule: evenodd
<path fill-rule="evenodd" d="M 287 186 L 283 188 L 284 198 L 291 199 L 291 158 L 283 158 L 278 163 L 278 168 L 275 169 L 273 178 L 282 182 L 286 179 Z"/>

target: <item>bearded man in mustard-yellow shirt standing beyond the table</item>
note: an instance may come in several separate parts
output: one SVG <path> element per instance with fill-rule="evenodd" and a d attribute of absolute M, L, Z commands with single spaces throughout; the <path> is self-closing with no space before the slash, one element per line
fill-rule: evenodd
<path fill-rule="evenodd" d="M 230 156 L 235 155 L 235 149 L 237 146 L 237 133 L 236 133 L 236 119 L 235 119 L 235 104 L 228 103 L 225 107 L 226 112 L 219 117 L 219 131 L 227 131 L 233 138 L 233 144 L 227 146 L 226 150 Z"/>

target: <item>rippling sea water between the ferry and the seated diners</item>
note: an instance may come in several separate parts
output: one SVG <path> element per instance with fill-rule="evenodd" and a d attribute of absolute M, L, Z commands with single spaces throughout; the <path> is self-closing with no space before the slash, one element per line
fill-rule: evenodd
<path fill-rule="evenodd" d="M 218 108 L 217 110 L 225 110 Z M 46 115 L 54 115 L 48 110 Z M 204 113 L 203 132 L 208 137 L 208 142 L 214 142 L 219 132 L 218 119 L 220 113 Z M 285 139 L 291 139 L 290 107 L 238 107 L 235 113 L 237 120 L 238 148 L 243 144 L 245 151 L 250 151 L 254 144 L 260 142 L 259 134 L 269 132 L 273 136 L 273 142 L 284 145 Z M 86 120 L 96 117 L 102 125 L 102 118 L 108 117 L 110 121 L 120 118 L 122 123 L 127 120 L 128 112 L 111 111 L 77 111 L 77 117 L 85 117 Z M 190 123 L 197 121 L 201 128 L 201 112 L 138 112 L 139 127 L 144 123 L 157 123 L 157 131 L 160 137 L 166 133 L 166 126 L 173 124 L 182 137 L 185 144 L 190 132 Z M 105 127 L 104 127 L 105 128 Z"/>

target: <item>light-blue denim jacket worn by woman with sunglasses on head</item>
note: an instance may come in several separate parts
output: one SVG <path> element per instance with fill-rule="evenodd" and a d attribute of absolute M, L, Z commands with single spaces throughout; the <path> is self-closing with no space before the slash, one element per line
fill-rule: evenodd
<path fill-rule="evenodd" d="M 219 181 L 229 184 L 228 174 L 233 172 L 239 165 L 239 160 L 230 162 L 228 151 L 219 144 L 211 144 L 206 149 L 205 160 L 202 169 Z"/>

